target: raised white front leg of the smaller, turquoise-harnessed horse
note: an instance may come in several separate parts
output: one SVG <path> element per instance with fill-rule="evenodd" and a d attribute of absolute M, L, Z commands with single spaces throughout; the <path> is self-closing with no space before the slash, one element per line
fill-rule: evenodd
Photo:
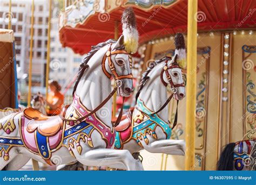
<path fill-rule="evenodd" d="M 141 141 L 144 149 L 151 153 L 164 153 L 169 155 L 185 155 L 186 144 L 184 140 L 157 140 L 146 145 Z"/>

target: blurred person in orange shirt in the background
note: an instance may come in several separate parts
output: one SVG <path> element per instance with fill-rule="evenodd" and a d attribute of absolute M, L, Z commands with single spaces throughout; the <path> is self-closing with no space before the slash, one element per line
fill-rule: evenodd
<path fill-rule="evenodd" d="M 48 115 L 58 115 L 62 110 L 62 105 L 64 104 L 64 95 L 60 93 L 61 86 L 55 80 L 49 81 L 50 92 L 48 98 L 46 99 L 46 113 Z"/>

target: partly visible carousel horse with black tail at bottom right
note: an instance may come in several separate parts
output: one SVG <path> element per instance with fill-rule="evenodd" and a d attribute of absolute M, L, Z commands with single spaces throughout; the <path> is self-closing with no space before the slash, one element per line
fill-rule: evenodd
<path fill-rule="evenodd" d="M 217 170 L 256 170 L 256 139 L 226 145 L 217 163 Z"/>

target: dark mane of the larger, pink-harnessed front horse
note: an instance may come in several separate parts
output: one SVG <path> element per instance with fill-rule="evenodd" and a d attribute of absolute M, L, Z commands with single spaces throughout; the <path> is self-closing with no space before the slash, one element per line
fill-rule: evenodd
<path fill-rule="evenodd" d="M 86 68 L 89 67 L 89 65 L 87 65 L 88 61 L 91 59 L 91 57 L 93 56 L 93 54 L 95 54 L 99 49 L 101 49 L 102 47 L 104 47 L 107 44 L 113 44 L 116 43 L 117 40 L 114 39 L 109 39 L 106 42 L 103 43 L 99 43 L 95 46 L 92 46 L 91 51 L 89 53 L 87 53 L 87 56 L 83 59 L 82 63 L 79 66 L 79 70 L 78 70 L 78 74 L 77 74 L 77 79 L 73 88 L 73 93 L 72 95 L 74 95 L 74 93 L 76 92 L 77 89 L 77 85 L 80 81 L 80 79 L 82 78 Z"/>

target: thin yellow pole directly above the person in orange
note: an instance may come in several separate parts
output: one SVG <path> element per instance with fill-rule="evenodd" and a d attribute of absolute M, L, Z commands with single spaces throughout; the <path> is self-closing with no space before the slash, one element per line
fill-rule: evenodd
<path fill-rule="evenodd" d="M 45 97 L 48 97 L 48 81 L 49 81 L 49 66 L 50 66 L 50 41 L 51 41 L 51 0 L 49 0 L 49 18 L 48 18 L 48 41 L 47 41 L 47 59 L 46 59 L 46 77 L 45 77 Z"/>

